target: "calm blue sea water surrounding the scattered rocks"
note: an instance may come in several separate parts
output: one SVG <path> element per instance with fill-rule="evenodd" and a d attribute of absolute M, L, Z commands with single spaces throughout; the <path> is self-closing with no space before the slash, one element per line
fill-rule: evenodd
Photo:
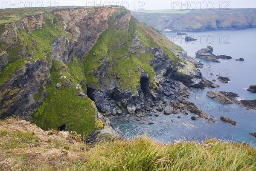
<path fill-rule="evenodd" d="M 217 75 L 229 77 L 230 82 L 221 83 L 216 91 L 227 91 L 239 94 L 241 99 L 256 99 L 253 94 L 246 89 L 249 85 L 256 83 L 256 29 L 247 29 L 239 31 L 204 31 L 204 32 L 186 32 L 189 35 L 197 37 L 197 42 L 186 43 L 185 36 L 177 37 L 176 33 L 164 33 L 166 37 L 175 44 L 181 46 L 189 56 L 195 57 L 195 52 L 207 46 L 213 47 L 215 55 L 229 55 L 233 57 L 230 60 L 221 60 L 221 63 L 213 63 L 201 60 L 205 64 L 201 69 L 202 74 L 208 80 L 217 79 Z M 202 39 L 200 40 L 200 37 Z M 207 37 L 207 38 L 206 38 Z M 214 41 L 213 41 L 213 39 Z M 244 61 L 235 61 L 240 57 Z M 210 75 L 213 74 L 213 76 Z M 200 107 L 207 115 L 212 115 L 217 119 L 216 123 L 205 123 L 205 120 L 192 121 L 189 113 L 164 115 L 160 113 L 159 117 L 149 117 L 145 124 L 131 118 L 132 122 L 125 121 L 125 117 L 111 118 L 112 125 L 119 128 L 129 137 L 135 137 L 138 134 L 148 134 L 160 142 L 171 142 L 178 139 L 205 140 L 207 137 L 216 137 L 218 139 L 236 140 L 252 143 L 256 146 L 256 139 L 249 135 L 249 132 L 256 132 L 256 111 L 247 110 L 239 105 L 224 105 L 212 100 L 206 96 L 209 88 L 197 91 L 191 88 L 193 98 L 187 99 Z M 197 96 L 195 99 L 194 97 Z M 222 122 L 221 115 L 232 118 L 237 122 L 237 126 Z M 180 118 L 177 118 L 180 116 Z M 154 122 L 148 125 L 148 122 Z"/>

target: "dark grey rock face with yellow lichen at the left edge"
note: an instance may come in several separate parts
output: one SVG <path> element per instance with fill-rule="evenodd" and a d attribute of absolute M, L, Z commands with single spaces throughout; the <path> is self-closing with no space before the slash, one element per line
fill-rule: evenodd
<path fill-rule="evenodd" d="M 27 62 L 25 66 L 16 71 L 15 75 L 0 87 L 0 118 L 9 117 L 10 114 L 25 120 L 33 120 L 32 114 L 42 104 L 41 99 L 47 95 L 46 91 L 34 96 L 38 90 L 51 83 L 49 68 L 44 60 Z"/>

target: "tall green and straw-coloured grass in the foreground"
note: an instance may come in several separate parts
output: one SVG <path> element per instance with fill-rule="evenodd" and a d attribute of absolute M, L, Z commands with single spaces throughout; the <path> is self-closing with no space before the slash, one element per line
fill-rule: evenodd
<path fill-rule="evenodd" d="M 240 143 L 207 140 L 170 145 L 148 137 L 100 142 L 88 152 L 88 160 L 73 170 L 256 170 L 256 150 Z"/>

